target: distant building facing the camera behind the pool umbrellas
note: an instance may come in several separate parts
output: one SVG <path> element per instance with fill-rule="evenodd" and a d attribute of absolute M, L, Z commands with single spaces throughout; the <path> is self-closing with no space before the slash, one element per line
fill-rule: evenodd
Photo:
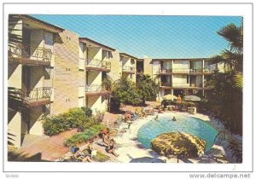
<path fill-rule="evenodd" d="M 217 69 L 207 58 L 152 59 L 152 75 L 160 85 L 159 100 L 163 95 L 185 95 L 201 92 L 206 95 L 207 80 Z"/>

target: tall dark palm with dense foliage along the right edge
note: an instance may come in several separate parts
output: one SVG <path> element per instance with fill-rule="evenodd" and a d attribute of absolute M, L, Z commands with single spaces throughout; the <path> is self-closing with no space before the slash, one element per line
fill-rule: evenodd
<path fill-rule="evenodd" d="M 229 68 L 224 73 L 216 72 L 212 79 L 210 102 L 218 106 L 219 118 L 231 132 L 241 134 L 242 129 L 242 61 L 243 27 L 230 24 L 221 28 L 218 35 L 229 42 L 230 49 L 212 57 L 216 63 Z"/>

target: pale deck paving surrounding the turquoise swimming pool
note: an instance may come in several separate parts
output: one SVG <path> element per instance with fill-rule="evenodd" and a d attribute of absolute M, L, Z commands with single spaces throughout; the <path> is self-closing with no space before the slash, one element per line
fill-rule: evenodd
<path fill-rule="evenodd" d="M 189 114 L 180 112 L 166 112 L 160 113 L 159 116 L 170 115 L 171 117 L 175 115 L 178 118 L 179 115 L 187 115 L 189 117 L 200 118 L 201 120 L 208 121 L 217 130 L 224 130 L 223 124 L 219 124 L 214 118 L 210 118 L 207 115 L 201 113 Z M 117 142 L 118 148 L 116 153 L 119 154 L 117 160 L 122 163 L 132 163 L 132 162 L 159 162 L 160 160 L 166 163 L 177 163 L 177 159 L 166 159 L 159 154 L 155 153 L 153 150 L 144 148 L 139 141 L 137 141 L 137 131 L 143 124 L 154 120 L 154 116 L 148 116 L 148 118 L 138 119 L 136 122 L 131 124 L 129 130 L 126 130 L 122 136 L 116 136 L 114 140 Z M 119 129 L 126 129 L 127 124 L 121 124 Z M 236 163 L 230 149 L 228 148 L 228 139 L 236 138 L 236 140 L 241 140 L 239 136 L 231 136 L 228 131 L 225 130 L 225 140 L 217 141 L 219 145 L 213 145 L 212 150 L 205 155 L 197 159 L 179 159 L 179 163 L 213 163 L 213 164 L 226 164 L 226 163 Z"/>

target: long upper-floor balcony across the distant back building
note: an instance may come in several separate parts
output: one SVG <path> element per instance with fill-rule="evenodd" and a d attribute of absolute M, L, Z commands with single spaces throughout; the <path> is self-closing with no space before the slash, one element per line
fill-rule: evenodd
<path fill-rule="evenodd" d="M 212 69 L 189 69 L 189 68 L 172 68 L 172 69 L 160 69 L 157 73 L 160 75 L 171 75 L 171 74 L 212 74 Z"/>

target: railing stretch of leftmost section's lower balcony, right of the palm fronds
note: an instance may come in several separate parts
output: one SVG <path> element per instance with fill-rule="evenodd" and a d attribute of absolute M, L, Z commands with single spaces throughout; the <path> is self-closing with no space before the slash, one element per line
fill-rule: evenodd
<path fill-rule="evenodd" d="M 26 90 L 26 101 L 41 100 L 50 98 L 52 91 L 50 87 L 35 88 L 33 90 Z"/>

